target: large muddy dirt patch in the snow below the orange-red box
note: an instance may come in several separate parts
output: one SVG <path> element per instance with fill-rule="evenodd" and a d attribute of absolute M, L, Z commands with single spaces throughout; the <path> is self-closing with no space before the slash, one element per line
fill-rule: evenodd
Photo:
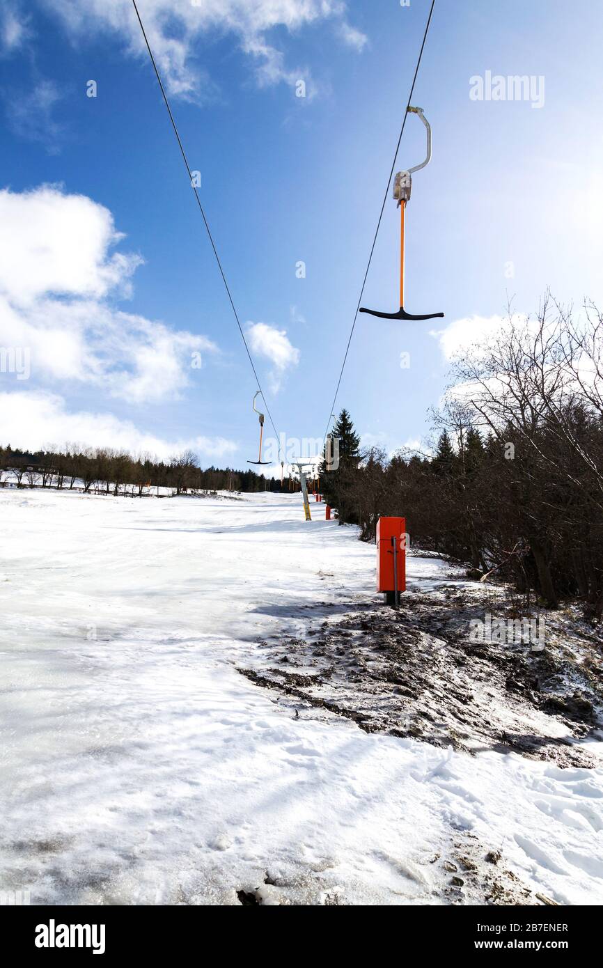
<path fill-rule="evenodd" d="M 296 715 L 319 709 L 370 733 L 594 766 L 576 741 L 602 723 L 600 634 L 567 610 L 546 616 L 535 647 L 471 641 L 470 622 L 493 611 L 515 618 L 503 590 L 407 593 L 398 612 L 356 607 L 310 620 L 303 638 L 263 642 L 261 662 L 240 672 L 277 690 Z"/>

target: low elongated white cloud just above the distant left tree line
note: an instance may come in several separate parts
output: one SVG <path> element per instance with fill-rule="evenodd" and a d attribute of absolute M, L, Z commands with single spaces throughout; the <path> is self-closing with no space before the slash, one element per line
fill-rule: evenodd
<path fill-rule="evenodd" d="M 62 397 L 42 391 L 0 393 L 0 412 L 0 443 L 27 450 L 74 442 L 84 447 L 115 447 L 132 454 L 150 453 L 163 460 L 192 450 L 202 463 L 225 461 L 237 450 L 234 441 L 222 437 L 166 440 L 110 413 L 69 413 Z"/>

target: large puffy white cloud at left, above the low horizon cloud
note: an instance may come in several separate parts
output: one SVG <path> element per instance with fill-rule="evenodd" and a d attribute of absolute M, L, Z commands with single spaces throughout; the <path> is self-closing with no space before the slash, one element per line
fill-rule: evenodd
<path fill-rule="evenodd" d="M 112 253 L 111 213 L 57 186 L 0 191 L 0 347 L 27 348 L 37 381 L 72 380 L 133 404 L 176 398 L 205 353 L 204 336 L 115 310 L 142 259 Z"/>

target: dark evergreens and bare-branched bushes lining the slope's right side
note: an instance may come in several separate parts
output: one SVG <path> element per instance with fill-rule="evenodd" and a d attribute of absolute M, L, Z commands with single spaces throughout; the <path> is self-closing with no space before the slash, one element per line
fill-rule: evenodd
<path fill-rule="evenodd" d="M 340 414 L 340 466 L 323 473 L 342 524 L 374 540 L 381 515 L 412 544 L 499 576 L 548 608 L 603 616 L 603 317 L 543 301 L 452 365 L 431 452 L 362 451 Z"/>

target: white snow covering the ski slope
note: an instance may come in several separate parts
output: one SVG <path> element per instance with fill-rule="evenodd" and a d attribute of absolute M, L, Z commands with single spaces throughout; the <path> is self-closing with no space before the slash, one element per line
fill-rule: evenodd
<path fill-rule="evenodd" d="M 0 889 L 448 903 L 435 858 L 472 842 L 532 892 L 601 903 L 603 770 L 294 718 L 237 672 L 266 636 L 376 597 L 375 548 L 311 508 L 0 491 Z M 410 589 L 450 581 L 407 563 Z"/>

